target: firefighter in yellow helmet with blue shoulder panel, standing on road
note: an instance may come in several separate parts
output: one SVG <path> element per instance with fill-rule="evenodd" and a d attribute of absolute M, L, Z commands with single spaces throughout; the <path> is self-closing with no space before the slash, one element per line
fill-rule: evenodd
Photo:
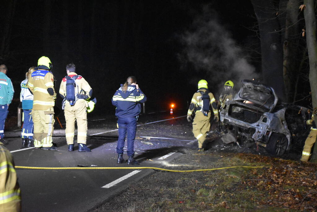
<path fill-rule="evenodd" d="M 40 57 L 28 81 L 28 88 L 34 95 L 31 114 L 36 149 L 57 150 L 52 140 L 55 123 L 53 107 L 56 99 L 52 68 L 53 65 L 48 57 Z"/>

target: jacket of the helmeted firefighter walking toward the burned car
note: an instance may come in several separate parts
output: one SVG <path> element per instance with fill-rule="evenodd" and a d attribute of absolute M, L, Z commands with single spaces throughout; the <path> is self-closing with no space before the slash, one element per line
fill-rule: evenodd
<path fill-rule="evenodd" d="M 189 109 L 187 111 L 187 116 L 191 116 L 194 110 L 197 112 L 202 113 L 202 106 L 203 106 L 203 100 L 201 99 L 202 95 L 200 91 L 205 92 L 207 89 L 201 88 L 194 93 L 193 97 L 191 98 L 191 104 L 189 105 Z M 208 93 L 209 98 L 210 98 L 210 105 L 212 107 L 212 111 L 214 112 L 215 116 L 218 116 L 218 109 L 217 109 L 217 104 L 216 104 L 216 99 L 214 95 L 209 92 Z"/>

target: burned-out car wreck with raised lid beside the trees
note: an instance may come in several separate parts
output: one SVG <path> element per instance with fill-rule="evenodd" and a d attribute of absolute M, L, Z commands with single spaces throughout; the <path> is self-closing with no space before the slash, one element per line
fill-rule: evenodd
<path fill-rule="evenodd" d="M 305 124 L 307 108 L 278 102 L 273 88 L 243 80 L 239 92 L 220 110 L 225 127 L 219 133 L 223 142 L 245 146 L 256 143 L 277 156 L 288 151 L 292 141 L 302 142 L 309 131 Z"/>

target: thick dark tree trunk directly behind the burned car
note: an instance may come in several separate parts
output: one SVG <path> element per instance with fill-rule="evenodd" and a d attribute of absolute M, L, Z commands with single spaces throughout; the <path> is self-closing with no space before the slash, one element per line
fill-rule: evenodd
<path fill-rule="evenodd" d="M 285 100 L 283 49 L 273 0 L 251 0 L 259 24 L 263 81 Z"/>

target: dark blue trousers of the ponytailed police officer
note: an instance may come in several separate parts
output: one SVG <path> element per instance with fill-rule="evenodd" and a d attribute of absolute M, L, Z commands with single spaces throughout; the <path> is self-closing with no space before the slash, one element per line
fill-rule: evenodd
<path fill-rule="evenodd" d="M 132 118 L 118 118 L 118 143 L 117 143 L 117 153 L 123 153 L 124 142 L 127 140 L 127 155 L 134 156 L 134 139 L 137 130 L 137 119 Z M 127 139 L 126 139 L 126 133 Z"/>

